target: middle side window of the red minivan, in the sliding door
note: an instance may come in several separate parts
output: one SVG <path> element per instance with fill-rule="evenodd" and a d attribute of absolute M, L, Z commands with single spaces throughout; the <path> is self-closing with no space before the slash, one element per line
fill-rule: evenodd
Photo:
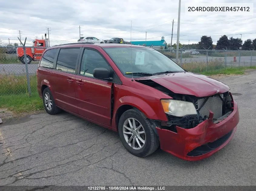
<path fill-rule="evenodd" d="M 79 53 L 79 48 L 61 49 L 58 56 L 56 69 L 75 74 L 75 66 Z"/>

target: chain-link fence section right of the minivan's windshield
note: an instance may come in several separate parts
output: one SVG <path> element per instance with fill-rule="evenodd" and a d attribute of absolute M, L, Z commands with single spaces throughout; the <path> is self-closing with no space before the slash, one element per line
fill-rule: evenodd
<path fill-rule="evenodd" d="M 226 67 L 256 66 L 255 50 L 207 50 L 179 49 L 158 50 L 190 72 L 214 71 Z"/>

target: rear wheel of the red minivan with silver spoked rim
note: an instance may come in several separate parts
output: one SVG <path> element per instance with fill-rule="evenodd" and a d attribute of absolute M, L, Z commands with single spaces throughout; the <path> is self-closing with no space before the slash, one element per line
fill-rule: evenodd
<path fill-rule="evenodd" d="M 44 103 L 45 111 L 50 115 L 55 115 L 61 112 L 61 109 L 56 106 L 52 96 L 52 92 L 50 91 L 49 88 L 44 89 L 43 103 Z"/>

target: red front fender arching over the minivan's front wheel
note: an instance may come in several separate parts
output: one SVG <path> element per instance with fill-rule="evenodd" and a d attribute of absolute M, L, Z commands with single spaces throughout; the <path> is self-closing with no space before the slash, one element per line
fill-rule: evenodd
<path fill-rule="evenodd" d="M 114 131 L 117 130 L 117 125 L 118 125 L 115 123 L 116 112 L 123 105 L 130 105 L 132 107 L 137 108 L 148 119 L 158 119 L 158 120 L 165 120 L 165 121 L 168 120 L 164 113 L 164 110 L 161 110 L 162 112 L 159 111 L 156 113 L 155 111 L 157 111 L 157 110 L 153 110 L 153 108 L 144 100 L 142 100 L 138 97 L 134 97 L 134 96 L 124 96 L 124 97 L 121 97 L 119 100 L 115 100 L 115 107 L 114 107 L 114 113 L 113 113 L 113 118 L 112 118 L 112 128 Z"/>

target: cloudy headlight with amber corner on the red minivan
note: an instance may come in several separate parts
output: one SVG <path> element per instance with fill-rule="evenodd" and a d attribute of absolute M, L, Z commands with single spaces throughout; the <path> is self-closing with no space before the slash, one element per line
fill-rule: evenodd
<path fill-rule="evenodd" d="M 165 113 L 173 116 L 182 117 L 185 115 L 197 114 L 192 102 L 179 100 L 161 100 Z"/>

